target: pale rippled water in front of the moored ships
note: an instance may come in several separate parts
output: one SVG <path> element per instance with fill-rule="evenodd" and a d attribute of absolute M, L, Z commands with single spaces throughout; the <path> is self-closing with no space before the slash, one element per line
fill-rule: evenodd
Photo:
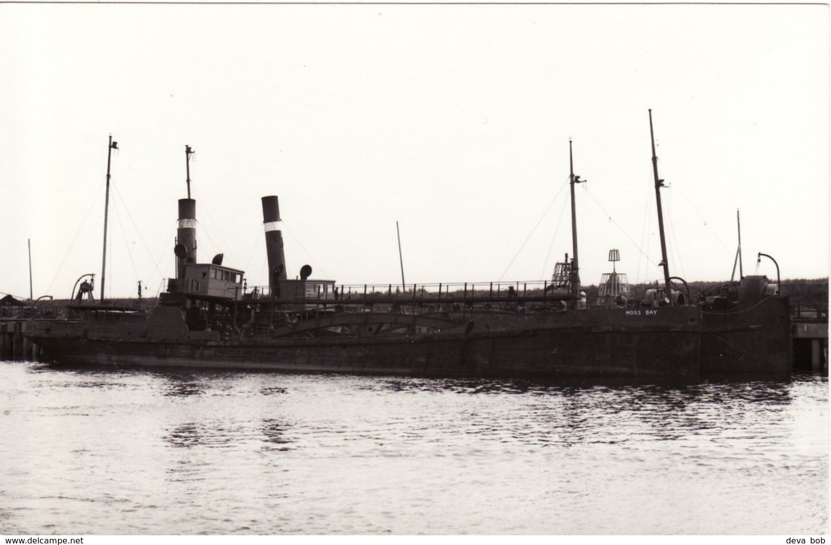
<path fill-rule="evenodd" d="M 0 533 L 828 533 L 828 381 L 0 362 Z"/>

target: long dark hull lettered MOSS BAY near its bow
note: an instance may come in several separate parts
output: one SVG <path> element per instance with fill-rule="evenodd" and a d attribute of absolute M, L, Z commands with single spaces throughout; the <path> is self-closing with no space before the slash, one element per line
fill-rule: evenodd
<path fill-rule="evenodd" d="M 169 331 L 161 338 L 152 327 L 85 332 L 67 324 L 33 327 L 29 337 L 47 361 L 72 365 L 695 379 L 700 320 L 696 307 L 616 308 L 475 315 L 460 331 L 425 334 L 219 340 L 170 338 Z"/>

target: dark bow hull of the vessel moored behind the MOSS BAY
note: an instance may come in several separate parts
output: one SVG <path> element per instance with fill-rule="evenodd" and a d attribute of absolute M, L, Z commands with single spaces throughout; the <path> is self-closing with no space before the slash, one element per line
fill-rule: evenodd
<path fill-rule="evenodd" d="M 765 297 L 701 312 L 701 372 L 789 375 L 793 369 L 788 297 Z"/>

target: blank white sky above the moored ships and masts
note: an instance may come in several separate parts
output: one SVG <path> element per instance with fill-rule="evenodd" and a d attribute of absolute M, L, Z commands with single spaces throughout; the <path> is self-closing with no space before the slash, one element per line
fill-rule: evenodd
<path fill-rule="evenodd" d="M 829 274 L 823 5 L 0 4 L 0 294 L 106 297 L 175 275 L 177 199 L 200 262 L 268 283 L 260 198 L 289 277 L 343 284 Z M 775 277 L 773 263 L 758 272 Z M 96 287 L 96 297 L 98 290 Z"/>

